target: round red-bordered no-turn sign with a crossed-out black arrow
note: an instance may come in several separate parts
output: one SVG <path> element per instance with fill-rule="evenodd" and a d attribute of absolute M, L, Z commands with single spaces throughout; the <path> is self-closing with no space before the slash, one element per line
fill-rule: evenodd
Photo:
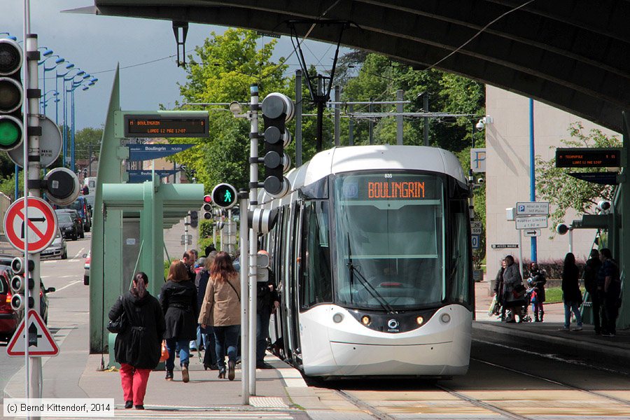
<path fill-rule="evenodd" d="M 24 198 L 13 202 L 4 215 L 4 234 L 9 243 L 24 250 L 25 238 L 29 253 L 43 251 L 57 235 L 57 215 L 50 204 L 38 197 L 29 197 L 29 220 L 25 221 Z"/>

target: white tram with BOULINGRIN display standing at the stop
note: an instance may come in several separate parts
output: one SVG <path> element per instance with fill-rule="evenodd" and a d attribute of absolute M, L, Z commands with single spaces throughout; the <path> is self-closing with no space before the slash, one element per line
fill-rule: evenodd
<path fill-rule="evenodd" d="M 288 174 L 262 238 L 281 293 L 280 356 L 312 377 L 465 374 L 474 293 L 469 188 L 420 146 L 332 148 Z"/>

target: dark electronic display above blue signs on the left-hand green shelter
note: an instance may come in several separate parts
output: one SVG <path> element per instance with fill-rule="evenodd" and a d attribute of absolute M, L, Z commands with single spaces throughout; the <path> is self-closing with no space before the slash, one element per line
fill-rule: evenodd
<path fill-rule="evenodd" d="M 208 137 L 207 115 L 125 114 L 125 137 Z"/>

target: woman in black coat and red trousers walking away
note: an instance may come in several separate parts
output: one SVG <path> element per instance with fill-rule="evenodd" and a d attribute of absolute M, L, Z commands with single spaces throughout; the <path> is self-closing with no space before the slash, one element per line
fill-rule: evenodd
<path fill-rule="evenodd" d="M 162 335 L 166 329 L 162 307 L 146 290 L 148 277 L 134 276 L 132 289 L 120 296 L 109 311 L 109 319 L 125 314 L 125 328 L 116 336 L 114 353 L 120 363 L 125 408 L 144 409 L 149 373 L 160 362 Z"/>

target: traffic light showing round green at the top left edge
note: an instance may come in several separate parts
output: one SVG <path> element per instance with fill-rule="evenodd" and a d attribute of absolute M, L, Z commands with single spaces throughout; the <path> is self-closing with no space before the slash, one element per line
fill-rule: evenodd
<path fill-rule="evenodd" d="M 0 39 L 0 151 L 11 151 L 24 141 L 21 69 L 20 45 L 12 39 Z"/>

